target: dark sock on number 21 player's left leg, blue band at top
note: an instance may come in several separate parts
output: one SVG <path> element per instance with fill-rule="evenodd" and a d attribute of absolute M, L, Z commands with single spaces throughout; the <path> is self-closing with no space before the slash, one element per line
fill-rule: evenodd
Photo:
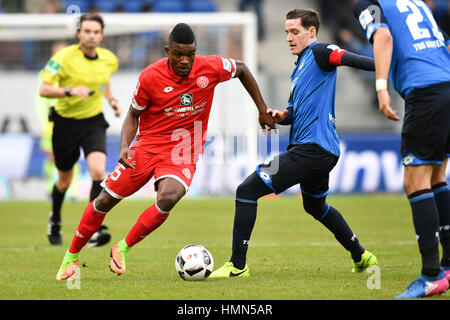
<path fill-rule="evenodd" d="M 408 195 L 414 229 L 422 254 L 438 248 L 439 214 L 431 189 L 424 189 Z"/>

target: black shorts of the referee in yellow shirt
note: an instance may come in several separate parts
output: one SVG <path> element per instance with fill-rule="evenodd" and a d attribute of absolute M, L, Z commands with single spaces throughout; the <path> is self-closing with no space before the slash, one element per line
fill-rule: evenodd
<path fill-rule="evenodd" d="M 88 119 L 64 118 L 53 112 L 53 153 L 60 171 L 69 171 L 80 158 L 93 151 L 106 154 L 106 129 L 109 127 L 103 113 Z"/>

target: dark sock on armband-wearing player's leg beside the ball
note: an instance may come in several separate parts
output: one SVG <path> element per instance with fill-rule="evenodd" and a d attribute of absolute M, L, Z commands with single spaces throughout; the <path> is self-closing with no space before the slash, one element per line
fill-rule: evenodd
<path fill-rule="evenodd" d="M 250 237 L 256 221 L 257 203 L 235 201 L 236 210 L 233 224 L 233 251 L 230 261 L 238 269 L 243 269 L 246 264 L 246 256 Z"/>

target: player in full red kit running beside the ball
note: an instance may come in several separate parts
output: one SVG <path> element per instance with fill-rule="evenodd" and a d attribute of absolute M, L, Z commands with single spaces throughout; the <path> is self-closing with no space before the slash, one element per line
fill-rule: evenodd
<path fill-rule="evenodd" d="M 239 78 L 258 108 L 261 128 L 275 129 L 248 67 L 230 58 L 196 55 L 196 49 L 190 26 L 177 24 L 165 47 L 168 57 L 142 71 L 122 126 L 119 164 L 84 210 L 57 280 L 75 277 L 80 251 L 106 213 L 155 177 L 156 202 L 111 249 L 111 270 L 119 275 L 125 272 L 128 250 L 164 223 L 192 182 L 217 84 Z M 130 147 L 138 128 L 137 141 Z"/>

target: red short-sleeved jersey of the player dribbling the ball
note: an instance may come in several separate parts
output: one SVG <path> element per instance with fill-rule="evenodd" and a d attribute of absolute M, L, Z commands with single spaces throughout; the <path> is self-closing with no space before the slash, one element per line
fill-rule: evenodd
<path fill-rule="evenodd" d="M 149 65 L 132 99 L 132 106 L 143 110 L 135 146 L 155 154 L 183 154 L 195 163 L 203 153 L 214 89 L 235 72 L 233 59 L 216 55 L 197 55 L 185 77 L 172 70 L 168 58 Z"/>

